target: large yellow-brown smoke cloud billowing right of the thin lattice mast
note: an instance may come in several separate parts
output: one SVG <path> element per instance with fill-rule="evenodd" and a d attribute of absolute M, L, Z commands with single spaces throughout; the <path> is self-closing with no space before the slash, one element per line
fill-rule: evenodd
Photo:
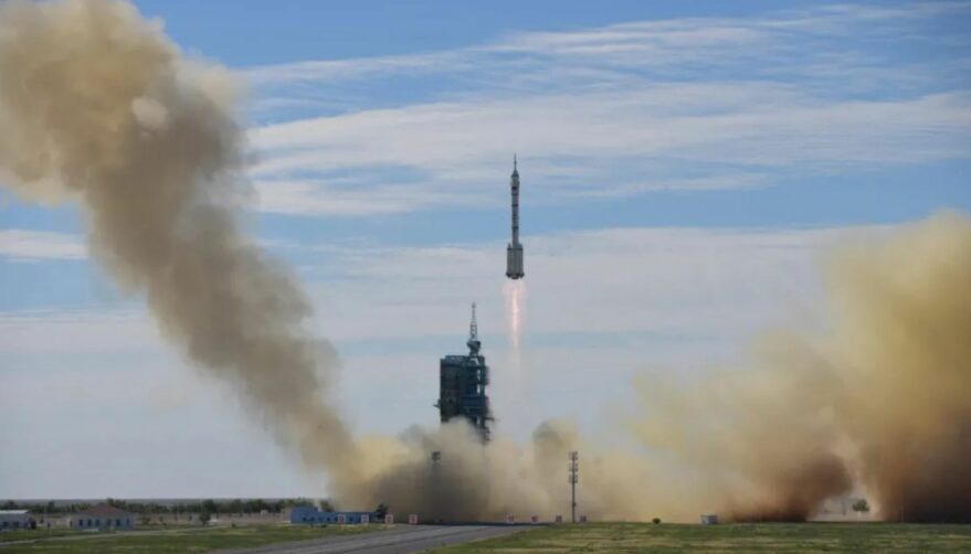
<path fill-rule="evenodd" d="M 802 521 L 855 491 L 884 520 L 971 521 L 971 220 L 826 262 L 830 332 L 766 334 L 750 367 L 698 381 L 642 379 L 635 433 L 736 519 Z"/>

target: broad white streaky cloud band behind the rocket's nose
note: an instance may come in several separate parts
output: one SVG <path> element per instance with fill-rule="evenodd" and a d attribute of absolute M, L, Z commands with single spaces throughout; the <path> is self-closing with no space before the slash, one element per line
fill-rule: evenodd
<path fill-rule="evenodd" d="M 719 109 L 726 97 L 740 96 L 745 88 L 685 85 L 679 90 L 436 104 L 295 121 L 254 132 L 265 156 L 254 174 L 267 211 L 286 205 L 294 214 L 321 213 L 321 207 L 369 214 L 477 203 L 502 182 L 508 155 L 517 150 L 527 152 L 527 185 L 549 201 L 658 188 L 750 187 L 752 174 L 762 175 L 761 184 L 771 183 L 770 171 L 819 174 L 964 158 L 971 151 L 967 93 L 820 103 L 763 89 L 753 92 L 761 102 Z M 665 106 L 673 98 L 688 104 L 692 97 L 719 96 L 707 114 Z M 415 175 L 341 191 L 321 184 L 330 175 L 373 166 Z M 645 185 L 652 182 L 661 184 Z M 502 200 L 493 194 L 485 205 Z"/>

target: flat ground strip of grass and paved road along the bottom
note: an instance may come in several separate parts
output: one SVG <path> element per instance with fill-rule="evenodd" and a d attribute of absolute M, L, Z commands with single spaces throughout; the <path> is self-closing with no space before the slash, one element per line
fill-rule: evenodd
<path fill-rule="evenodd" d="M 38 536 L 38 535 L 35 535 Z M 24 537 L 20 535 L 19 539 Z M 229 550 L 223 550 L 229 548 Z M 249 525 L 74 534 L 0 543 L 0 554 L 176 553 L 403 554 L 463 552 L 967 552 L 971 525 L 889 523 L 724 524 L 588 523 L 505 525 L 383 525 L 312 528 Z"/>

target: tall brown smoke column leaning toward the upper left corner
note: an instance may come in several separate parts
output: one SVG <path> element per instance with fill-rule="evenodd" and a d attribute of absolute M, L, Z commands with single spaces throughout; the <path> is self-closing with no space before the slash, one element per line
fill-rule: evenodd
<path fill-rule="evenodd" d="M 352 450 L 326 402 L 335 360 L 295 277 L 241 232 L 244 134 L 225 71 L 193 64 L 128 3 L 0 7 L 0 182 L 77 199 L 93 256 L 162 333 L 233 383 L 305 460 Z"/>

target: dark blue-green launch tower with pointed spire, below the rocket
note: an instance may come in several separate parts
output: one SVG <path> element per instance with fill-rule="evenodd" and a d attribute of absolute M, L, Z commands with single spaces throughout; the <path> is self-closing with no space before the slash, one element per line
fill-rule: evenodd
<path fill-rule="evenodd" d="M 485 356 L 478 353 L 478 324 L 475 321 L 475 303 L 472 305 L 472 322 L 468 326 L 467 355 L 446 355 L 439 366 L 440 388 L 435 407 L 442 423 L 464 417 L 478 432 L 482 440 L 489 439 L 489 397 L 485 387 L 489 384 L 489 369 Z"/>

